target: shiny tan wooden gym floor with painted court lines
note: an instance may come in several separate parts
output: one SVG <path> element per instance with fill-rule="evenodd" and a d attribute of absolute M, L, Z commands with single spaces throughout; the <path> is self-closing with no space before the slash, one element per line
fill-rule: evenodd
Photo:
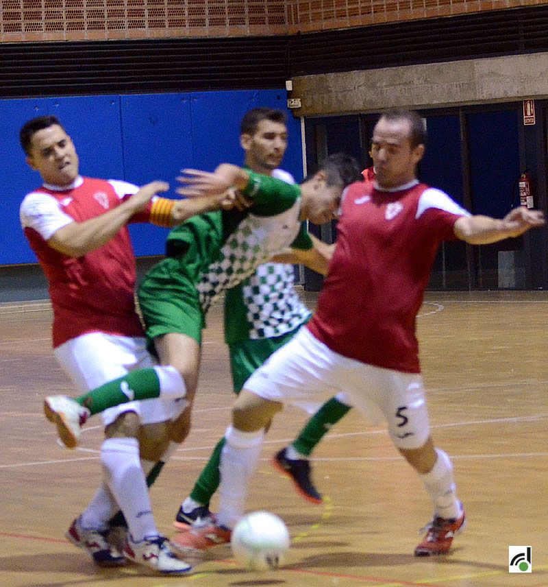
<path fill-rule="evenodd" d="M 315 296 L 308 294 L 312 306 Z M 232 402 L 221 308 L 206 331 L 192 432 L 151 490 L 160 531 L 171 522 Z M 287 409 L 266 439 L 249 510 L 271 510 L 292 536 L 282 570 L 251 573 L 220 547 L 190 577 L 95 567 L 64 540 L 100 479 L 101 420 L 67 451 L 42 415 L 42 398 L 73 390 L 51 352 L 47 304 L 0 307 L 0 585 L 548 586 L 548 293 L 429 293 L 419 317 L 432 433 L 453 458 L 468 514 L 445 558 L 414 558 L 432 511 L 419 479 L 383 427 L 350 412 L 314 453 L 323 505 L 306 503 L 269 458 L 306 415 Z M 212 507 L 216 506 L 216 501 Z M 532 546 L 532 573 L 508 573 L 508 547 Z"/>

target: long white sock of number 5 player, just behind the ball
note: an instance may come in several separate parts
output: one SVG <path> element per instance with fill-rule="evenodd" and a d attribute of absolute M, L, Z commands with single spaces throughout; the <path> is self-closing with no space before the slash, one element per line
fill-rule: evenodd
<path fill-rule="evenodd" d="M 217 523 L 234 527 L 243 516 L 251 475 L 255 472 L 264 440 L 264 429 L 242 432 L 229 426 L 221 453 L 221 485 Z"/>

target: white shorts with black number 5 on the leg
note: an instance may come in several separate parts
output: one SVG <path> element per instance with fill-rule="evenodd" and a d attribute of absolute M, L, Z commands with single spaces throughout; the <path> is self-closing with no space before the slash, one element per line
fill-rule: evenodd
<path fill-rule="evenodd" d="M 419 448 L 429 437 L 423 378 L 367 365 L 329 349 L 301 330 L 249 377 L 244 389 L 281 403 L 319 407 L 338 395 L 374 424 L 388 422 L 398 448 Z M 344 394 L 344 395 L 340 395 Z"/>

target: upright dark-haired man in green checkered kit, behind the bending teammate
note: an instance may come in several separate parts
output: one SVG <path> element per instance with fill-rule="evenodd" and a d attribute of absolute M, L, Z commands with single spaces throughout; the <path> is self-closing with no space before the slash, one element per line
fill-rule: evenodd
<path fill-rule="evenodd" d="M 253 108 L 242 118 L 240 145 L 245 153 L 245 167 L 293 184 L 295 180 L 290 173 L 279 169 L 287 141 L 286 114 L 282 110 Z M 316 246 L 323 246 L 312 235 L 311 238 Z M 292 262 L 311 263 L 308 251 L 293 249 L 292 252 Z M 234 393 L 240 393 L 251 373 L 310 319 L 312 314 L 299 298 L 294 285 L 292 265 L 264 263 L 253 275 L 226 291 L 225 342 L 229 346 Z M 219 460 L 224 445 L 223 437 L 179 507 L 175 518 L 178 529 L 186 530 L 192 523 L 211 517 L 209 504 L 219 487 Z M 275 464 L 284 467 L 283 472 L 295 481 L 297 490 L 306 499 L 315 503 L 321 501 L 310 477 L 308 461 L 289 459 L 284 454 L 275 459 Z"/>

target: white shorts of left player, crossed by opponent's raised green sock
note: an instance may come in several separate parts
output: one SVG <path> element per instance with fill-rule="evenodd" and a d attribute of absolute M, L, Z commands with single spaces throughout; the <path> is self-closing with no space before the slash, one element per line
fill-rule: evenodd
<path fill-rule="evenodd" d="M 65 342 L 53 352 L 60 366 L 82 394 L 112 379 L 118 379 L 129 371 L 156 364 L 145 347 L 144 337 L 87 333 Z M 185 406 L 186 402 L 182 398 L 155 398 L 111 407 L 105 409 L 101 416 L 103 424 L 108 426 L 120 414 L 134 411 L 142 424 L 154 424 L 177 418 Z"/>

